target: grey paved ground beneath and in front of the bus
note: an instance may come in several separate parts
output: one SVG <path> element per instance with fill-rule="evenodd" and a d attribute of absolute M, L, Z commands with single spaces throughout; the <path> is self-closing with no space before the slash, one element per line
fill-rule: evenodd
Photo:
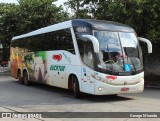
<path fill-rule="evenodd" d="M 84 112 L 160 112 L 159 106 L 160 89 L 146 88 L 140 94 L 123 94 L 116 97 L 85 95 L 82 99 L 74 99 L 72 93 L 68 90 L 40 84 L 27 87 L 20 85 L 8 72 L 0 73 L 0 112 L 82 112 L 81 115 L 85 116 L 87 113 Z M 79 117 L 78 113 L 73 114 L 75 117 Z M 65 115 L 72 114 L 65 113 Z M 98 113 L 92 115 L 95 116 Z M 3 121 L 4 118 L 0 120 Z M 4 121 L 7 120 L 11 119 L 5 119 Z M 14 120 L 21 121 L 22 119 Z M 156 118 L 45 118 L 23 120 L 158 121 Z"/>

